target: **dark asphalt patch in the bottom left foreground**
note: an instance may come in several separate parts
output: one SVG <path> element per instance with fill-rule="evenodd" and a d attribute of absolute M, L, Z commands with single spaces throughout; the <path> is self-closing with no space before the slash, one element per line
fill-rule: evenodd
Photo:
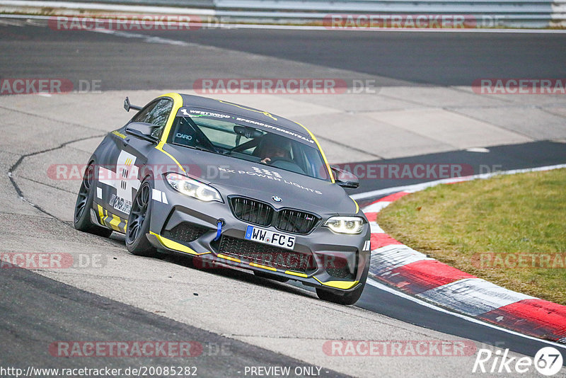
<path fill-rule="evenodd" d="M 3 340 L 1 365 L 81 368 L 84 360 L 55 357 L 47 345 L 54 340 L 184 340 L 197 341 L 194 357 L 109 357 L 89 361 L 90 368 L 140 366 L 197 367 L 199 377 L 231 377 L 244 366 L 283 365 L 291 369 L 304 362 L 247 343 L 203 331 L 131 306 L 55 282 L 29 270 L 9 269 L 0 275 Z M 9 295 L 6 293 L 10 293 Z M 85 321 L 88 319 L 88 321 Z M 192 371 L 192 370 L 191 370 Z M 323 370 L 324 377 L 345 377 Z"/>

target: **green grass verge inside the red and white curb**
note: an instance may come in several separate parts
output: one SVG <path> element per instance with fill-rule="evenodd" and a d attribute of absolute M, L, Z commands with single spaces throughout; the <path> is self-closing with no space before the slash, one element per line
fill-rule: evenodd
<path fill-rule="evenodd" d="M 393 202 L 377 222 L 455 268 L 566 304 L 566 169 L 437 185 Z"/>

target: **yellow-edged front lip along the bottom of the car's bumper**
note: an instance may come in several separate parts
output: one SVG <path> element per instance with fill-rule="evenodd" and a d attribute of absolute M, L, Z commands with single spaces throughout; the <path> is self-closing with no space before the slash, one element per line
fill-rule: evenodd
<path fill-rule="evenodd" d="M 262 265 L 258 263 L 248 263 L 246 261 L 242 261 L 238 258 L 233 258 L 231 256 L 226 256 L 222 253 L 212 253 L 208 252 L 197 252 L 192 248 L 189 248 L 183 244 L 180 244 L 176 241 L 171 239 L 167 239 L 161 235 L 158 235 L 154 232 L 149 232 L 146 234 L 149 241 L 158 246 L 158 248 L 165 249 L 166 251 L 171 251 L 173 253 L 181 253 L 183 255 L 190 255 L 198 258 L 202 258 L 203 260 L 207 260 L 212 263 L 221 263 L 224 265 L 230 265 L 237 268 L 243 268 L 247 270 L 259 271 L 262 273 L 267 273 L 274 275 L 276 277 L 284 277 L 289 280 L 296 280 L 303 282 L 305 285 L 313 286 L 313 287 L 324 287 L 329 291 L 335 292 L 337 294 L 346 294 L 348 292 L 352 292 L 362 285 L 359 281 L 328 281 L 323 282 L 318 280 L 318 278 L 311 275 L 306 275 L 305 273 L 294 272 L 293 270 L 281 270 L 277 268 L 273 268 L 267 265 Z M 349 285 L 349 286 L 347 286 Z M 344 288 L 340 287 L 344 286 Z"/>

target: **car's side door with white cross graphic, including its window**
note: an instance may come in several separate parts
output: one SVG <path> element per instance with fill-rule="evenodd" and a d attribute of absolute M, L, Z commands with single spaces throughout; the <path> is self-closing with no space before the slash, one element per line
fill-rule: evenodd
<path fill-rule="evenodd" d="M 154 142 L 129 134 L 127 131 L 118 133 L 120 135 L 112 138 L 115 146 L 109 156 L 108 165 L 111 167 L 113 177 L 100 180 L 100 183 L 107 185 L 104 195 L 105 203 L 102 204 L 107 212 L 117 215 L 122 220 L 129 216 L 132 200 L 141 183 L 138 178 L 139 169 L 146 165 L 147 156 L 161 137 L 172 109 L 171 98 L 158 98 L 139 110 L 128 122 L 127 125 L 132 122 L 156 125 L 156 129 L 151 134 L 155 138 Z M 112 228 L 116 231 L 123 231 L 123 227 Z"/>

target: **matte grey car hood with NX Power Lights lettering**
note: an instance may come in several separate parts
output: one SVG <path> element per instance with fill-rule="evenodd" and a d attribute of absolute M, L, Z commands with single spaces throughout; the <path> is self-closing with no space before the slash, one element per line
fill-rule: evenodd
<path fill-rule="evenodd" d="M 335 183 L 230 156 L 168 145 L 189 176 L 209 183 L 226 199 L 243 195 L 270 203 L 275 209 L 294 207 L 318 214 L 354 214 L 357 205 Z M 275 202 L 273 197 L 281 198 Z"/>

